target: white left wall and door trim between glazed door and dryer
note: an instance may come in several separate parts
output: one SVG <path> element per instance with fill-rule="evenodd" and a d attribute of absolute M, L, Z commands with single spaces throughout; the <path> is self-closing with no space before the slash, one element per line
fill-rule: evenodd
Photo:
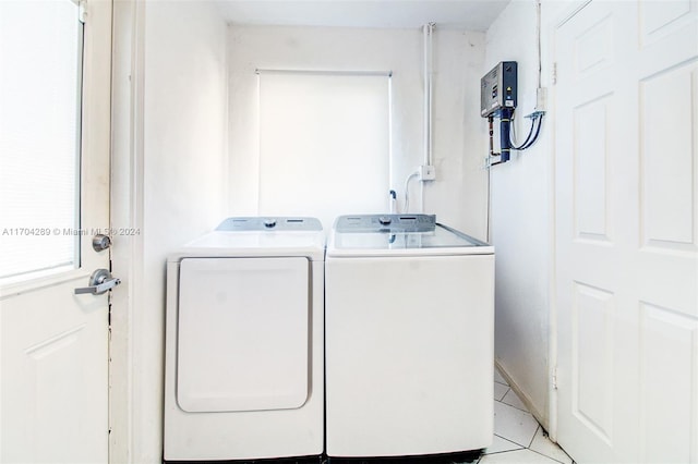
<path fill-rule="evenodd" d="M 153 1 L 133 11 L 117 29 L 123 46 L 135 33 L 131 63 L 116 52 L 117 78 L 133 87 L 127 93 L 124 82 L 115 84 L 117 112 L 131 108 L 135 119 L 134 133 L 119 121 L 115 126 L 115 139 L 128 137 L 134 145 L 119 144 L 115 152 L 115 191 L 124 197 L 115 206 L 128 210 L 112 218 L 140 228 L 141 235 L 130 254 L 124 255 L 127 243 L 115 243 L 115 272 L 125 277 L 121 295 L 131 298 L 116 300 L 113 310 L 130 315 L 128 327 L 116 328 L 116 345 L 130 345 L 132 363 L 120 371 L 128 379 L 116 381 L 119 390 L 130 384 L 130 392 L 119 399 L 129 411 L 117 413 L 128 423 L 128 437 L 112 456 L 155 463 L 163 453 L 166 256 L 214 228 L 226 209 L 227 26 L 208 2 Z"/>

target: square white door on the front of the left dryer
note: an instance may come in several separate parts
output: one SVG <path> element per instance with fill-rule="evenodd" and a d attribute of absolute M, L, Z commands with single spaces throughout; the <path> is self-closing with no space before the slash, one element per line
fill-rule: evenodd
<path fill-rule="evenodd" d="M 309 395 L 310 261 L 184 258 L 177 401 L 186 412 L 300 407 Z"/>

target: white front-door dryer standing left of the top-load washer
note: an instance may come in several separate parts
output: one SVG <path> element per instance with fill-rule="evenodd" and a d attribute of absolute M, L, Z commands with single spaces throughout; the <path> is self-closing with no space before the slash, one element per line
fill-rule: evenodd
<path fill-rule="evenodd" d="M 323 453 L 314 218 L 229 218 L 167 261 L 166 461 Z"/>

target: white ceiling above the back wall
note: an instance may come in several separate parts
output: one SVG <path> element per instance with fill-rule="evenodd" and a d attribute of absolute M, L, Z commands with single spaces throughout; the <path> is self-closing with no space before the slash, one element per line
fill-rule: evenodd
<path fill-rule="evenodd" d="M 484 32 L 510 0 L 218 0 L 233 24 L 458 27 Z"/>

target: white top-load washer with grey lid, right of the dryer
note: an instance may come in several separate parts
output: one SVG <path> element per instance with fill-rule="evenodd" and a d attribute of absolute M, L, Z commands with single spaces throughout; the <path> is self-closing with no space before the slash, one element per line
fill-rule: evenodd
<path fill-rule="evenodd" d="M 342 216 L 325 257 L 326 452 L 492 443 L 494 248 L 428 215 Z"/>

